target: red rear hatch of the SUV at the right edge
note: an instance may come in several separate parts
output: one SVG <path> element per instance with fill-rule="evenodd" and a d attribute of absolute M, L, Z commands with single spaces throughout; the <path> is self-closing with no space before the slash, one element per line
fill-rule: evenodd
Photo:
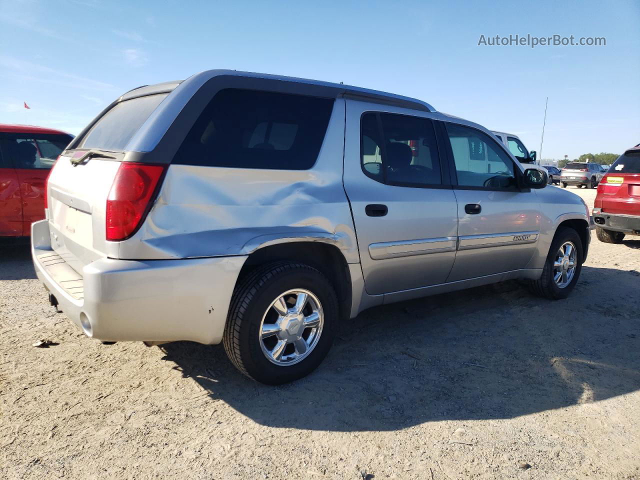
<path fill-rule="evenodd" d="M 628 150 L 612 164 L 598 185 L 594 207 L 603 213 L 640 216 L 640 150 Z"/>

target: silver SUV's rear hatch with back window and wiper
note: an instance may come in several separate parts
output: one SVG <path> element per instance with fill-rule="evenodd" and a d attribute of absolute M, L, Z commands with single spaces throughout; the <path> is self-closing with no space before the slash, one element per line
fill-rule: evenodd
<path fill-rule="evenodd" d="M 47 181 L 51 245 L 76 271 L 101 257 L 117 258 L 117 243 L 107 239 L 109 192 L 121 175 L 127 144 L 167 95 L 116 103 L 72 142 L 52 169 Z"/>

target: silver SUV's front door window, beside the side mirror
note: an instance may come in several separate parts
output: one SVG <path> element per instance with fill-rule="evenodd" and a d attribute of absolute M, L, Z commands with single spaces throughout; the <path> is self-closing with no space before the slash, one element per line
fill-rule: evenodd
<path fill-rule="evenodd" d="M 489 189 L 516 188 L 513 161 L 481 131 L 447 123 L 458 185 Z"/>

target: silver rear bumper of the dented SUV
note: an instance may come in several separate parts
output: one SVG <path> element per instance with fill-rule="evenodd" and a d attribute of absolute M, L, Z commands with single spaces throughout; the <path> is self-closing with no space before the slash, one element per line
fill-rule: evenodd
<path fill-rule="evenodd" d="M 220 343 L 246 256 L 99 259 L 76 273 L 51 248 L 49 222 L 33 223 L 36 275 L 67 316 L 100 340 Z"/>

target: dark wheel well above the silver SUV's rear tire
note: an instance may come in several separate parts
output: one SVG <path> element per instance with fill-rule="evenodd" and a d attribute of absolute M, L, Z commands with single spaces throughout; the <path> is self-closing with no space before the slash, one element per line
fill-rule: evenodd
<path fill-rule="evenodd" d="M 351 275 L 339 248 L 321 242 L 292 242 L 259 248 L 244 262 L 236 285 L 253 270 L 277 261 L 300 262 L 316 268 L 332 282 L 338 296 L 340 318 L 351 315 Z"/>

